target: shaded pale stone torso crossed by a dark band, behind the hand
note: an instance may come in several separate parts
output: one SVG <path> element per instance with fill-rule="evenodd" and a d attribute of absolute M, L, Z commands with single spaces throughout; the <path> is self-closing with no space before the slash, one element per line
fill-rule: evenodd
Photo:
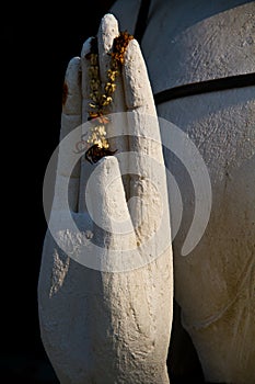
<path fill-rule="evenodd" d="M 131 9 L 124 14 L 123 3 L 116 1 L 112 12 L 120 29 L 130 29 Z M 153 92 L 255 72 L 254 18 L 254 1 L 152 0 L 141 52 Z M 181 257 L 193 218 L 193 189 L 175 158 L 165 158 L 186 204 L 174 240 L 175 298 L 205 379 L 212 383 L 255 383 L 254 95 L 251 84 L 158 106 L 159 116 L 195 143 L 211 180 L 206 233 L 192 253 Z"/>

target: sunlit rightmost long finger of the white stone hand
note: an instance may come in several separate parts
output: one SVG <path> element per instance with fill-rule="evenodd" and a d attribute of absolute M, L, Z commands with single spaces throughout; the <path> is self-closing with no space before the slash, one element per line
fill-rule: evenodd
<path fill-rule="evenodd" d="M 129 110 L 130 212 L 142 242 L 157 233 L 162 217 L 169 228 L 170 223 L 160 126 L 148 71 L 136 39 L 127 47 L 123 78 Z"/>

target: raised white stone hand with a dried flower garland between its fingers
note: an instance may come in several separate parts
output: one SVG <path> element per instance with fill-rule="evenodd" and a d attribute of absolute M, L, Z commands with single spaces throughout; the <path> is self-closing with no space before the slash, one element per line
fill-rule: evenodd
<path fill-rule="evenodd" d="M 118 34 L 116 19 L 106 14 L 97 34 L 103 84 Z M 65 79 L 55 194 L 38 281 L 42 340 L 61 384 L 164 384 L 173 275 L 159 122 L 134 38 L 107 115 L 106 133 L 117 151 L 93 165 L 84 153 L 77 155 L 76 144 L 84 143 L 91 127 L 91 41 L 81 57 L 70 60 Z"/>

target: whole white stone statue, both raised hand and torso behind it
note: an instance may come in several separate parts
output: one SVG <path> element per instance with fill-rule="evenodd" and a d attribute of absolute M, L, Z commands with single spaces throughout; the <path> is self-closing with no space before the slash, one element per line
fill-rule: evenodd
<path fill-rule="evenodd" d="M 117 0 L 102 19 L 103 84 L 140 3 Z M 61 384 L 170 383 L 173 297 L 205 381 L 255 383 L 254 20 L 254 1 L 152 0 L 109 103 L 117 151 L 93 165 L 79 155 L 71 176 L 70 143 L 89 135 L 92 39 L 70 60 L 38 281 L 42 340 Z M 165 89 L 177 95 L 160 102 Z"/>

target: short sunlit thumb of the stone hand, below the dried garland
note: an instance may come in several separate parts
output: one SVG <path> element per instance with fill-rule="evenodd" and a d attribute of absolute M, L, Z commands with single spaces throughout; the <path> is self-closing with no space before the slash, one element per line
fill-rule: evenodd
<path fill-rule="evenodd" d="M 88 180 L 86 206 L 93 221 L 93 240 L 104 271 L 123 270 L 125 255 L 136 249 L 136 235 L 115 156 L 102 158 Z M 124 268 L 125 269 L 125 268 Z"/>

